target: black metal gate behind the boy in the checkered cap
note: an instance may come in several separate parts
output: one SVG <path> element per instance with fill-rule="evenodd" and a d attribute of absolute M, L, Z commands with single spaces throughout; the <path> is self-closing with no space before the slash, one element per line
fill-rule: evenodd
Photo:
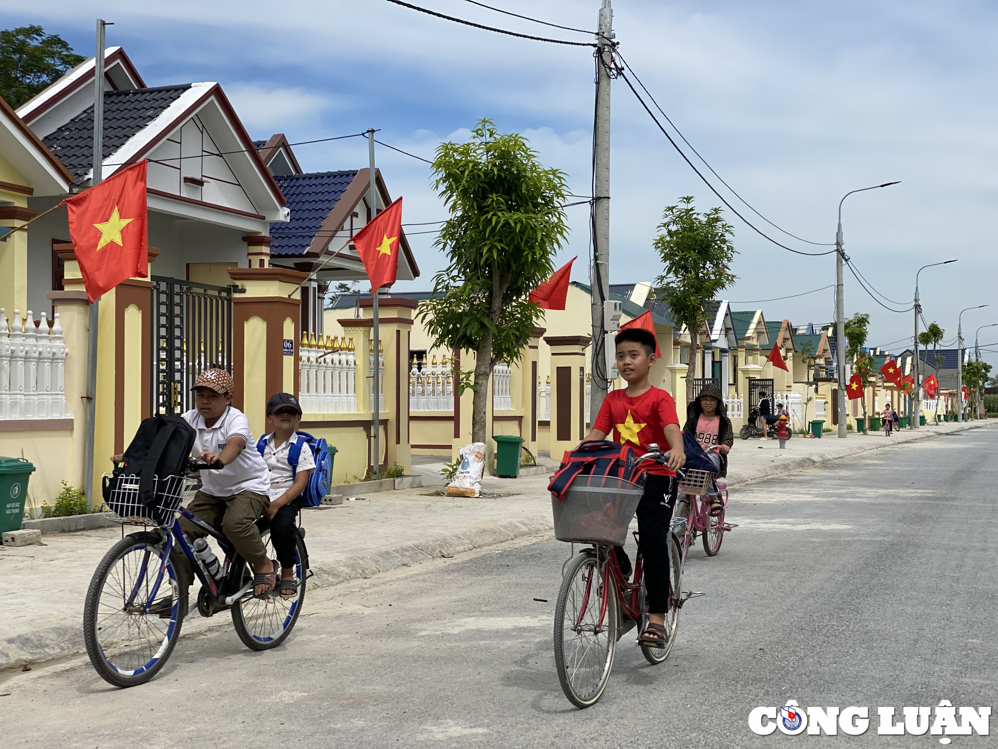
<path fill-rule="evenodd" d="M 194 407 L 203 370 L 233 371 L 232 287 L 153 276 L 153 415 Z"/>

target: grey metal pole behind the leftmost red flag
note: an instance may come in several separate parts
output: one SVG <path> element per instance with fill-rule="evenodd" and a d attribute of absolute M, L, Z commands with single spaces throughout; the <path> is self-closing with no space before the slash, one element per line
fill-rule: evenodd
<path fill-rule="evenodd" d="M 94 50 L 94 153 L 91 187 L 101 184 L 104 161 L 104 27 L 97 19 L 97 42 Z M 94 439 L 97 429 L 97 329 L 100 323 L 100 298 L 90 304 L 87 330 L 87 394 L 84 401 L 83 490 L 87 511 L 94 506 Z"/>

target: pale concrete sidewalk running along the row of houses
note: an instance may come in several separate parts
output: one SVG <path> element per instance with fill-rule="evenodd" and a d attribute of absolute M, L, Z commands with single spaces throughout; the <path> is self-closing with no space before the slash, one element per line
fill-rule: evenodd
<path fill-rule="evenodd" d="M 776 441 L 737 438 L 729 485 L 992 423 L 945 423 L 889 438 L 882 432 L 869 436 L 850 432 L 845 440 L 794 436 L 783 450 Z M 548 475 L 487 476 L 484 488 L 501 496 L 436 496 L 440 486 L 424 486 L 306 510 L 303 523 L 314 572 L 309 595 L 319 588 L 438 558 L 441 552 L 459 556 L 547 532 L 552 527 L 547 482 Z M 737 493 L 733 503 L 737 512 Z M 120 537 L 121 530 L 114 527 L 45 535 L 44 545 L 0 546 L 0 669 L 84 651 L 81 626 L 87 587 L 101 557 Z M 192 588 L 192 593 L 196 591 L 197 586 Z M 190 616 L 184 632 L 214 626 L 231 626 L 229 615 Z"/>

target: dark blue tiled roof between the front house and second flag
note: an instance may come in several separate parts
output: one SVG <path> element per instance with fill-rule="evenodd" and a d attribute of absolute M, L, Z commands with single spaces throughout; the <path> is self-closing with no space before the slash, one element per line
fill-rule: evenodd
<path fill-rule="evenodd" d="M 285 205 L 291 212 L 291 220 L 273 226 L 270 255 L 303 255 L 325 217 L 356 176 L 355 169 L 275 176 L 277 187 L 287 199 Z"/>

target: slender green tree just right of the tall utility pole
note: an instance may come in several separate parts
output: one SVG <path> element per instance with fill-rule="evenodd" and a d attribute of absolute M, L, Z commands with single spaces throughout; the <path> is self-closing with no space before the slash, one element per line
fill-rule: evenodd
<path fill-rule="evenodd" d="M 706 308 L 738 277 L 732 273 L 735 228 L 725 221 L 720 208 L 700 213 L 693 196 L 680 198 L 680 205 L 667 206 L 655 238 L 665 273 L 655 280 L 656 297 L 669 305 L 677 323 L 690 333 L 690 363 L 687 382 L 697 376 L 697 342 L 707 320 Z M 693 387 L 687 387 L 687 402 Z"/>

